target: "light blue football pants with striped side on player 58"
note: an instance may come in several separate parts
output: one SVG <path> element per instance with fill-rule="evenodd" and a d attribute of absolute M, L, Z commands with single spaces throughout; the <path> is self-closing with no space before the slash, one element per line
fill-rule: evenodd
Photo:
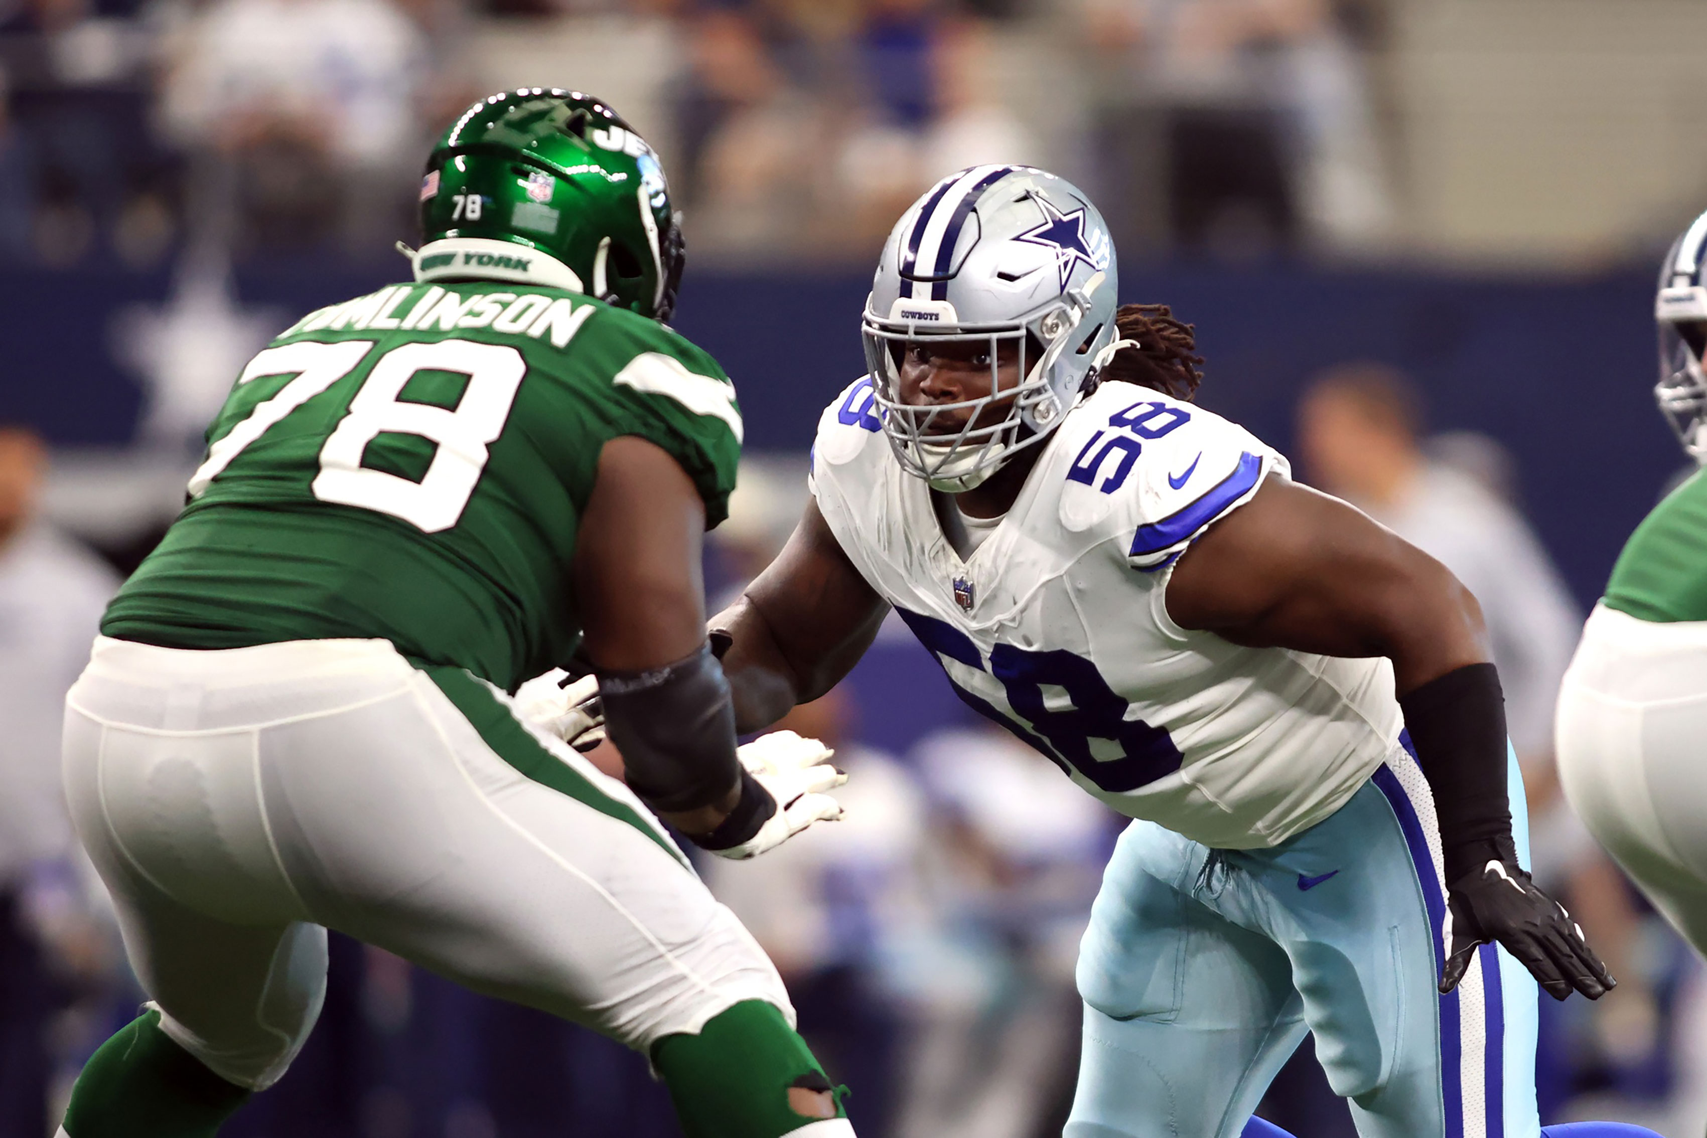
<path fill-rule="evenodd" d="M 1516 756 L 1511 805 L 1528 863 Z M 1270 850 L 1133 822 L 1079 952 L 1063 1138 L 1234 1138 L 1306 1032 L 1362 1138 L 1536 1138 L 1536 984 L 1483 945 L 1439 995 L 1441 877 L 1434 798 L 1400 749 Z"/>

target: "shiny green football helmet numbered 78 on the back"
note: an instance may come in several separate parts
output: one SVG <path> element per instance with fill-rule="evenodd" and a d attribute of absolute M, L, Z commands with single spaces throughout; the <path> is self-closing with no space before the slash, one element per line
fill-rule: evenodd
<path fill-rule="evenodd" d="M 655 321 L 676 307 L 681 218 L 664 167 L 592 96 L 524 87 L 468 107 L 427 159 L 420 208 L 415 280 L 555 285 Z"/>

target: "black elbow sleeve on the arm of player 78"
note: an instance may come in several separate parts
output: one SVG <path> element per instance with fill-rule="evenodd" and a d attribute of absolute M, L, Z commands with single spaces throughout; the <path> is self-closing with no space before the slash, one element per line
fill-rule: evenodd
<path fill-rule="evenodd" d="M 628 788 L 654 810 L 722 802 L 741 776 L 729 681 L 705 645 L 645 672 L 599 672 L 599 698 Z"/>

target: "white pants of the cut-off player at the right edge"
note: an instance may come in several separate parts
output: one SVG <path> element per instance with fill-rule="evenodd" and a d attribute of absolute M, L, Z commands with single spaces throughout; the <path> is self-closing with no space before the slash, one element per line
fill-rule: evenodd
<path fill-rule="evenodd" d="M 1557 751 L 1589 833 L 1707 952 L 1707 623 L 1596 606 L 1558 689 Z"/>

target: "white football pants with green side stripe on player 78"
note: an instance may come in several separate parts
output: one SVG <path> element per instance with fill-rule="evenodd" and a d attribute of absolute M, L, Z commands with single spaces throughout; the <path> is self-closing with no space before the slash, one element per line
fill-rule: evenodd
<path fill-rule="evenodd" d="M 468 672 L 384 640 L 101 638 L 65 790 L 166 1032 L 261 1089 L 326 986 L 326 928 L 645 1051 L 777 969 L 650 812 Z"/>

